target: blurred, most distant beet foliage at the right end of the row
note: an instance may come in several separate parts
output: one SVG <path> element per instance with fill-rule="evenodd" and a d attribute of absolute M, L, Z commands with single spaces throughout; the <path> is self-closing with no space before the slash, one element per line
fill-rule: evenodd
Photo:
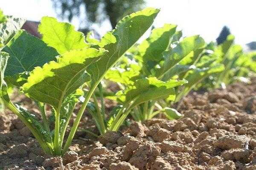
<path fill-rule="evenodd" d="M 234 44 L 235 37 L 227 36 L 227 39 L 216 46 L 213 42 L 207 45 L 207 51 L 204 59 L 211 59 L 208 65 L 221 63 L 224 65 L 224 71 L 212 74 L 205 79 L 202 86 L 205 88 L 225 88 L 235 81 L 249 82 L 248 77 L 256 73 L 255 52 L 245 54 L 240 45 Z"/>

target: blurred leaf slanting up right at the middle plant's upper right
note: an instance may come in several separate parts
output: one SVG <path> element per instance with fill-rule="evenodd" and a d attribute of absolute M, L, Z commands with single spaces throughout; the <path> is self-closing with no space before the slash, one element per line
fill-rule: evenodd
<path fill-rule="evenodd" d="M 202 47 L 204 47 L 204 39 L 198 35 L 184 38 L 175 48 L 163 52 L 164 60 L 155 68 L 155 76 L 162 77 L 184 57 Z"/>

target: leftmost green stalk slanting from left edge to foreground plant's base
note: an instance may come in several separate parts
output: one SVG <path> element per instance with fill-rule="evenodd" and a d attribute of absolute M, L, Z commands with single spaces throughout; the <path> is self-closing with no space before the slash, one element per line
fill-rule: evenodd
<path fill-rule="evenodd" d="M 3 102 L 29 128 L 31 133 L 35 136 L 35 139 L 37 139 L 38 143 L 41 145 L 41 147 L 44 150 L 44 152 L 47 153 L 47 154 L 52 154 L 52 150 L 49 149 L 49 147 L 47 146 L 46 142 L 44 142 L 44 140 L 43 140 L 44 136 L 41 136 L 41 134 L 39 134 L 37 132 L 37 130 L 35 130 L 35 128 L 20 114 L 20 112 L 15 107 L 15 105 L 13 105 L 12 102 L 6 102 L 5 100 L 3 100 Z"/>

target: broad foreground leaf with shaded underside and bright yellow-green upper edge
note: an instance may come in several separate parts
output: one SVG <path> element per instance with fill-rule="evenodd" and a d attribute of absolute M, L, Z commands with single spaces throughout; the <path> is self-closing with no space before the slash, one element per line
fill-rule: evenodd
<path fill-rule="evenodd" d="M 51 61 L 42 68 L 36 67 L 23 85 L 23 91 L 39 102 L 59 108 L 68 95 L 90 80 L 86 68 L 105 52 L 102 48 L 68 51 L 57 57 L 57 62 Z"/>

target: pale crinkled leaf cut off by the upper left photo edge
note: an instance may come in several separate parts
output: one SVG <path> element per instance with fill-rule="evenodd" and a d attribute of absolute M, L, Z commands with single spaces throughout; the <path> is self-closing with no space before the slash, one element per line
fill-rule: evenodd
<path fill-rule="evenodd" d="M 0 51 L 15 36 L 24 23 L 24 19 L 6 16 L 6 22 L 0 23 Z"/>

